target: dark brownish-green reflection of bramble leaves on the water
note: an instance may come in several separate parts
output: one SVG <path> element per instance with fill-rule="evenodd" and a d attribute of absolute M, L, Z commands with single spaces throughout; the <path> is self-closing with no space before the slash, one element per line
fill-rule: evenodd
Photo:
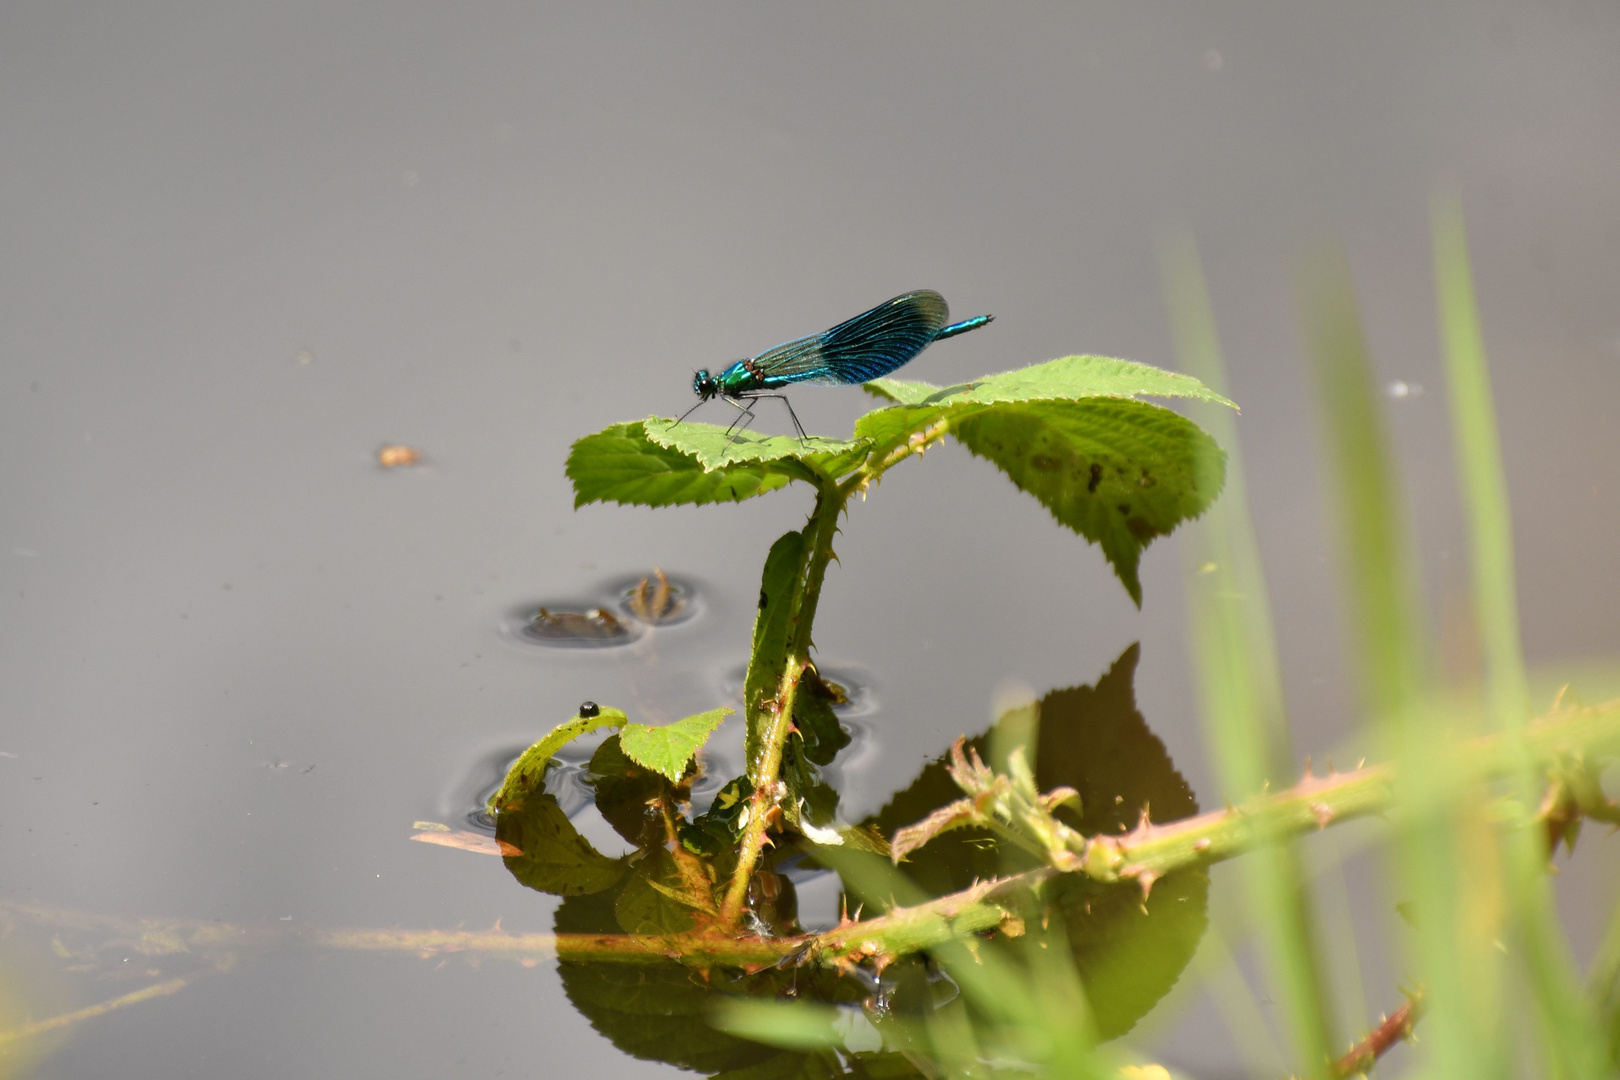
<path fill-rule="evenodd" d="M 1024 746 L 1035 759 L 1042 790 L 1066 785 L 1079 792 L 1079 808 L 1061 813 L 1066 824 L 1085 834 L 1124 832 L 1144 814 L 1168 821 L 1196 813 L 1191 789 L 1136 708 L 1137 659 L 1139 648 L 1131 646 L 1095 685 L 1053 690 L 1034 706 L 1009 711 L 969 745 L 998 766 Z M 800 790 L 825 798 L 820 808 L 805 806 L 810 821 L 818 819 L 810 816 L 816 811 L 826 813 L 826 819 L 836 811 L 836 790 L 818 777 L 849 745 L 838 712 L 852 698 L 842 687 L 812 687 L 802 696 L 805 708 L 795 711 L 791 743 L 807 771 Z M 724 784 L 698 813 L 703 800 L 693 798 L 695 779 L 695 769 L 672 782 L 635 764 L 612 735 L 596 748 L 585 771 L 569 774 L 552 766 L 543 793 L 501 811 L 497 837 L 522 852 L 507 857 L 505 865 L 522 884 L 565 897 L 556 913 L 559 933 L 642 938 L 701 933 L 714 915 L 714 882 L 724 882 L 735 865 L 737 814 L 747 805 L 748 789 L 745 777 Z M 591 792 L 595 813 L 635 852 L 609 858 L 580 836 L 552 790 L 570 782 Z M 846 845 L 839 850 L 847 852 L 855 844 L 852 837 L 893 836 L 957 798 L 961 790 L 946 774 L 944 759 L 930 763 L 878 814 L 857 826 L 859 832 L 844 826 Z M 757 934 L 804 933 L 795 882 L 828 873 L 818 871 L 815 860 L 818 852 L 831 850 L 818 848 L 792 829 L 776 836 L 748 892 Z M 1032 857 L 998 845 L 988 832 L 957 829 L 914 852 L 904 871 L 927 895 L 938 897 L 1034 865 Z M 1034 955 L 1032 942 L 1056 946 L 1072 959 L 1071 970 L 1085 986 L 1097 1031 L 1111 1038 L 1128 1031 L 1174 984 L 1204 933 L 1207 902 L 1209 879 L 1202 870 L 1166 874 L 1145 899 L 1137 884 L 1098 886 L 1059 878 L 1048 884 L 1040 907 L 1029 910 L 1021 939 L 996 933 L 975 947 L 978 955 L 1003 954 L 1016 967 Z M 946 1009 L 974 1022 L 991 1020 L 959 997 L 949 962 L 941 959 L 923 954 L 841 972 L 789 962 L 757 972 L 698 972 L 680 963 L 604 963 L 599 954 L 562 952 L 561 970 L 575 1007 L 637 1057 L 713 1075 L 901 1077 L 925 1074 L 896 1051 L 896 1031 Z M 833 1057 L 761 1046 L 701 1022 L 726 997 L 784 994 L 859 1007 L 878 1030 L 889 1033 L 891 1043 L 859 1052 L 846 1048 Z"/>

